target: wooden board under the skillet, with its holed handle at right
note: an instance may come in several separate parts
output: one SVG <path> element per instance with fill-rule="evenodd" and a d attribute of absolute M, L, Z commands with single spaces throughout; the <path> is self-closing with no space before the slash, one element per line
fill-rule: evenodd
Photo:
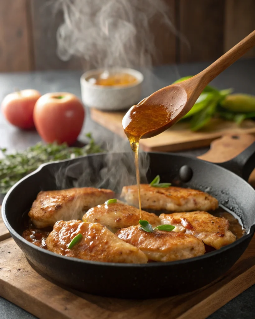
<path fill-rule="evenodd" d="M 200 158 L 226 161 L 254 140 L 247 135 L 225 136 Z M 40 319 L 205 319 L 255 284 L 255 237 L 237 263 L 215 282 L 191 293 L 153 300 L 98 297 L 60 286 L 35 271 L 10 237 L 0 219 L 0 295 Z"/>

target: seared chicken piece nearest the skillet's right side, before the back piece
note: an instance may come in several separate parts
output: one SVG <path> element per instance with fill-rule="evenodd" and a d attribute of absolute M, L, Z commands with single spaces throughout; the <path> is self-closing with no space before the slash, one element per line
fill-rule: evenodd
<path fill-rule="evenodd" d="M 236 236 L 230 232 L 229 221 L 206 211 L 191 211 L 159 216 L 162 224 L 175 226 L 174 232 L 191 234 L 215 249 L 231 244 Z"/>

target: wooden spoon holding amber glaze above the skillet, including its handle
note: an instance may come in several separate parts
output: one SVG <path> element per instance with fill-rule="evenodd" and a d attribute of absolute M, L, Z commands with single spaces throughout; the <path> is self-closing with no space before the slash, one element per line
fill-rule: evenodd
<path fill-rule="evenodd" d="M 130 108 L 122 120 L 130 144 L 162 133 L 181 119 L 193 107 L 206 85 L 254 45 L 255 30 L 202 72 L 166 86 Z"/>

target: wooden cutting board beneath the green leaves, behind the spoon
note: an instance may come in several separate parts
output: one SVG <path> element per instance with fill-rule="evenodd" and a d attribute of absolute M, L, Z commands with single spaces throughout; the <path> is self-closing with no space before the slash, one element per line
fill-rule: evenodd
<path fill-rule="evenodd" d="M 127 138 L 122 128 L 124 112 L 103 112 L 91 108 L 91 118 L 108 130 Z M 177 123 L 169 130 L 148 139 L 141 139 L 140 146 L 146 151 L 175 152 L 208 146 L 225 134 L 255 134 L 255 122 L 245 120 L 240 127 L 235 122 L 214 119 L 199 132 L 192 132 L 187 123 Z"/>

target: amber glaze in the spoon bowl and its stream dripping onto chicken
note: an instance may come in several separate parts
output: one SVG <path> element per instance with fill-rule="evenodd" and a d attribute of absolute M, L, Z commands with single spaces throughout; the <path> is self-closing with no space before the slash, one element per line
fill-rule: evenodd
<path fill-rule="evenodd" d="M 157 130 L 169 123 L 171 113 L 164 105 L 134 105 L 124 116 L 122 126 L 126 133 L 130 146 L 135 152 L 135 173 L 138 189 L 138 201 L 140 218 L 142 219 L 141 195 L 140 195 L 140 174 L 139 174 L 139 141 L 147 132 Z"/>

